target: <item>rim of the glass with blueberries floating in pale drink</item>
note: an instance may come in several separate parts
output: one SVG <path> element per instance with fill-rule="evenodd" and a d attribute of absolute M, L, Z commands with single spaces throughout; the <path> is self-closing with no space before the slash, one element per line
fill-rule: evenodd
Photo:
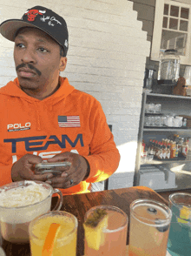
<path fill-rule="evenodd" d="M 162 207 L 163 210 L 165 210 L 168 213 L 168 217 L 166 219 L 160 219 L 160 223 L 158 223 L 158 224 L 157 224 L 157 222 L 155 222 L 156 219 L 148 219 L 148 218 L 142 217 L 142 215 L 135 213 L 134 209 L 133 209 L 133 207 L 135 205 L 139 205 L 139 204 L 142 204 L 142 203 L 153 204 L 153 205 L 157 205 L 159 207 Z M 171 221 L 171 218 L 172 218 L 171 209 L 167 205 L 164 205 L 161 202 L 158 202 L 158 201 L 153 200 L 153 199 L 136 199 L 136 200 L 134 200 L 130 204 L 130 215 L 131 214 L 135 217 L 135 219 L 143 222 L 145 225 L 155 226 L 155 227 L 161 227 L 161 226 L 164 226 L 164 225 L 168 225 Z M 150 223 L 148 223 L 148 222 L 150 222 Z"/>

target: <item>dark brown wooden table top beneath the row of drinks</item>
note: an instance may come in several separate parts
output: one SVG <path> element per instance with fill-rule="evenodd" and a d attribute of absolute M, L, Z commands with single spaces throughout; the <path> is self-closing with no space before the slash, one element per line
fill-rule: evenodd
<path fill-rule="evenodd" d="M 175 191 L 174 191 L 175 192 Z M 61 211 L 71 212 L 78 219 L 78 239 L 77 256 L 83 255 L 83 237 L 82 228 L 83 217 L 91 207 L 95 205 L 115 205 L 126 212 L 129 218 L 129 205 L 135 199 L 155 199 L 168 205 L 168 194 L 170 192 L 159 193 L 144 187 L 135 186 L 130 188 L 115 189 L 103 192 L 91 192 L 78 195 L 69 195 L 63 197 L 63 206 Z M 166 198 L 166 199 L 165 199 Z M 52 199 L 52 206 L 56 205 L 56 198 Z M 128 226 L 129 228 L 129 226 Z M 128 244 L 128 239 L 127 239 Z M 14 245 L 3 240 L 3 249 L 6 256 L 30 256 L 30 245 Z M 37 256 L 37 255 L 36 255 Z"/>

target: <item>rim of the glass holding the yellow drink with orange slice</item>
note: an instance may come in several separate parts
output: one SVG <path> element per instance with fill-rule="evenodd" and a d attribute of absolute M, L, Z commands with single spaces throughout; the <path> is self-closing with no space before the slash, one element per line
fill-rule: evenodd
<path fill-rule="evenodd" d="M 73 214 L 70 213 L 70 212 L 65 212 L 65 211 L 50 211 L 50 212 L 46 212 L 46 213 L 44 213 L 44 214 L 42 214 L 42 215 L 36 217 L 36 219 L 33 219 L 33 220 L 30 221 L 30 226 L 29 226 L 30 238 L 31 238 L 31 235 L 32 235 L 32 237 L 34 237 L 35 239 L 43 240 L 43 239 L 37 237 L 37 236 L 34 234 L 34 232 L 32 231 L 32 229 L 33 229 L 33 226 L 36 224 L 36 222 L 37 222 L 39 219 L 43 219 L 44 217 L 46 217 L 46 216 L 51 216 L 51 215 L 62 215 L 62 216 L 63 216 L 63 215 L 64 215 L 64 216 L 65 216 L 65 215 L 68 215 L 70 218 L 72 218 L 72 219 L 74 220 L 74 223 L 75 223 L 75 226 L 74 226 L 74 228 L 72 229 L 71 232 L 67 233 L 66 236 L 64 236 L 64 237 L 62 237 L 62 238 L 60 238 L 60 239 L 56 239 L 56 240 L 58 241 L 58 243 L 59 243 L 60 241 L 63 241 L 64 239 L 67 239 L 70 235 L 72 235 L 74 232 L 76 232 L 76 229 L 77 229 L 77 226 L 78 226 L 78 221 L 77 221 L 77 218 L 76 218 L 75 215 L 73 215 Z"/>

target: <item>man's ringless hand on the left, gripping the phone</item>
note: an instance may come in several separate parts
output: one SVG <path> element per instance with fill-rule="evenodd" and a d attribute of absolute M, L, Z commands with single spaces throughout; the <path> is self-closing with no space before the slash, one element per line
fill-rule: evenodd
<path fill-rule="evenodd" d="M 47 179 L 53 177 L 52 174 L 43 174 L 43 175 L 35 175 L 35 165 L 43 162 L 43 159 L 31 155 L 26 154 L 22 158 L 20 158 L 16 163 L 12 166 L 11 169 L 11 179 L 13 181 L 19 181 L 19 180 L 40 180 L 40 181 L 46 181 Z"/>

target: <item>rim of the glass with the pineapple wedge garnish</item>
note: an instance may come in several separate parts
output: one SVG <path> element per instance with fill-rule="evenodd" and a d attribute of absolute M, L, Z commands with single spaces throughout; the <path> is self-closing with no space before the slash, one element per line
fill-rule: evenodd
<path fill-rule="evenodd" d="M 96 205 L 96 206 L 93 206 L 89 209 L 89 211 L 87 211 L 85 213 L 84 220 L 87 219 L 89 212 L 93 212 L 97 208 L 109 209 L 109 210 L 113 210 L 115 212 L 120 212 L 125 217 L 125 221 L 120 227 L 118 227 L 116 229 L 112 229 L 112 230 L 104 228 L 102 230 L 102 232 L 118 232 L 118 231 L 122 230 L 122 228 L 124 228 L 126 225 L 128 225 L 128 215 L 125 212 L 123 212 L 122 209 L 120 209 L 119 207 L 117 207 L 115 205 Z"/>

